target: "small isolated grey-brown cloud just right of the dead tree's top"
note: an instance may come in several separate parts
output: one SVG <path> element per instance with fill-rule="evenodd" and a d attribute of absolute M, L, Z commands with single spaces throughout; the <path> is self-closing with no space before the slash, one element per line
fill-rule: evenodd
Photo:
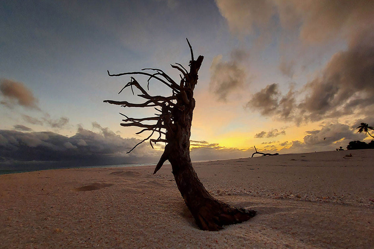
<path fill-rule="evenodd" d="M 247 57 L 246 52 L 233 50 L 229 61 L 223 61 L 222 55 L 213 58 L 209 90 L 217 96 L 218 100 L 225 102 L 231 93 L 244 86 L 246 71 L 241 63 Z"/>

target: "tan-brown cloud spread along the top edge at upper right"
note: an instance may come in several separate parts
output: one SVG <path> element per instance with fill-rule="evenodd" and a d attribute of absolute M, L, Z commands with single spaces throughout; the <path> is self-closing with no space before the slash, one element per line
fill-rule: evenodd
<path fill-rule="evenodd" d="M 230 31 L 238 36 L 260 33 L 274 26 L 297 29 L 303 43 L 315 44 L 355 33 L 374 20 L 373 1 L 350 0 L 216 0 Z M 275 18 L 276 17 L 276 18 Z M 273 20 L 279 19 L 279 23 Z"/>

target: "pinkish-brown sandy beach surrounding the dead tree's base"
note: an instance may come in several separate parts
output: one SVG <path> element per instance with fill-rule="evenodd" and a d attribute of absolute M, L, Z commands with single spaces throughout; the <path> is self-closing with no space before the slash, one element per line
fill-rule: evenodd
<path fill-rule="evenodd" d="M 0 248 L 374 248 L 373 162 L 354 150 L 195 163 L 213 196 L 258 211 L 218 232 L 196 226 L 170 165 L 0 175 Z"/>

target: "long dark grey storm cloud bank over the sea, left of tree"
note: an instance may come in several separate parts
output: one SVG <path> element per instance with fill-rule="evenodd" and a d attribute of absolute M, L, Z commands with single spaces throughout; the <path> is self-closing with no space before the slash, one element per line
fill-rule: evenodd
<path fill-rule="evenodd" d="M 140 141 L 122 138 L 106 128 L 95 133 L 79 127 L 71 137 L 53 132 L 0 130 L 0 158 L 8 163 L 59 161 L 71 166 L 157 162 L 161 151 L 145 143 L 126 154 Z"/>

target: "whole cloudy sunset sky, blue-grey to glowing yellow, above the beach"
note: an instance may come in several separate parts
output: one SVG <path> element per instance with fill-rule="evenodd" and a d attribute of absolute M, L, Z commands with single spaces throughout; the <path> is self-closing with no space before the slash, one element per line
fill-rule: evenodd
<path fill-rule="evenodd" d="M 139 129 L 153 109 L 121 72 L 188 66 L 194 90 L 191 159 L 301 153 L 370 141 L 374 125 L 374 1 L 1 1 L 0 166 L 155 163 Z M 147 78 L 137 76 L 144 86 Z M 151 81 L 150 93 L 171 92 Z"/>

